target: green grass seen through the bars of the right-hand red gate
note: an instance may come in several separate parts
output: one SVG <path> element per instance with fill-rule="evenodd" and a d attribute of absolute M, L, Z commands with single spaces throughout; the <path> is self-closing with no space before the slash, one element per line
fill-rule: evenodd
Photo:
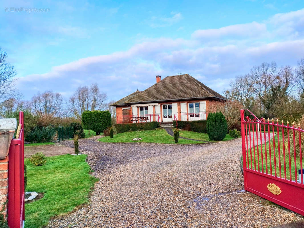
<path fill-rule="evenodd" d="M 264 131 L 262 131 L 262 135 L 264 134 Z M 268 132 L 266 133 L 266 135 L 268 135 Z M 270 133 L 270 135 L 272 136 L 272 132 Z M 256 134 L 254 135 L 255 137 L 255 142 L 254 144 L 256 145 Z M 269 155 L 269 142 L 266 142 L 266 147 L 267 147 L 267 169 L 268 169 L 268 174 L 270 173 L 270 157 L 271 157 L 271 171 L 272 171 L 272 175 L 277 175 L 280 176 L 280 169 L 279 169 L 279 160 L 281 161 L 281 175 L 284 178 L 285 177 L 285 173 L 284 173 L 284 154 L 283 154 L 283 139 L 282 139 L 282 132 L 279 133 L 279 140 L 278 140 L 278 135 L 275 134 L 274 136 L 275 139 L 275 143 L 273 142 L 273 138 L 270 140 L 270 151 L 271 151 L 271 155 Z M 246 138 L 245 138 L 246 140 Z M 260 141 L 259 141 L 260 142 Z M 262 141 L 262 149 L 263 149 L 263 169 L 264 169 L 264 173 L 266 173 L 266 158 L 265 158 L 265 143 L 263 143 L 264 140 Z M 292 142 L 290 142 L 292 143 Z M 279 144 L 280 144 L 280 156 L 278 155 L 278 149 L 279 149 Z M 251 145 L 253 145 L 253 142 L 251 141 Z M 287 145 L 287 139 L 285 139 L 285 145 Z M 275 153 L 274 153 L 274 148 L 275 148 Z M 262 171 L 262 156 L 261 156 L 261 145 L 258 146 L 259 149 L 259 153 L 257 153 L 257 146 L 255 146 L 254 148 L 251 148 L 251 154 L 252 154 L 252 168 L 254 169 L 254 164 L 255 164 L 255 168 L 256 170 L 260 170 Z M 248 155 L 249 155 L 249 162 L 247 161 L 247 164 L 249 164 L 249 168 L 251 168 L 251 159 L 250 159 L 250 141 L 249 141 L 249 137 L 248 137 Z M 290 151 L 291 153 L 291 165 L 290 165 L 290 170 L 291 170 L 291 176 L 292 176 L 292 180 L 295 180 L 295 159 L 293 156 L 293 150 L 291 149 Z M 254 156 L 255 154 L 255 156 Z M 274 155 L 275 154 L 275 155 Z M 254 161 L 254 157 L 255 157 L 255 161 Z M 274 162 L 275 160 L 276 162 Z M 246 160 L 247 157 L 246 157 Z M 260 169 L 258 169 L 258 160 L 260 161 Z M 285 163 L 286 163 L 286 178 L 289 180 L 290 179 L 290 174 L 289 174 L 289 155 L 288 155 L 288 148 L 285 148 Z M 304 168 L 304 159 L 302 161 L 302 166 Z M 248 167 L 248 166 L 247 166 Z M 297 177 L 298 177 L 298 170 L 300 169 L 300 159 L 299 157 L 296 157 L 296 170 L 297 170 Z M 275 172 L 276 169 L 276 172 Z"/>

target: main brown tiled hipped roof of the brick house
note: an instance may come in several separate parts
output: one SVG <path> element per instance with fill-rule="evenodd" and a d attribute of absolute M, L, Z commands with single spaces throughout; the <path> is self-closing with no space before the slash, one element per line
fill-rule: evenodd
<path fill-rule="evenodd" d="M 125 103 L 132 104 L 211 97 L 226 100 L 222 95 L 189 74 L 181 74 L 164 78 L 143 92 L 125 100 Z"/>

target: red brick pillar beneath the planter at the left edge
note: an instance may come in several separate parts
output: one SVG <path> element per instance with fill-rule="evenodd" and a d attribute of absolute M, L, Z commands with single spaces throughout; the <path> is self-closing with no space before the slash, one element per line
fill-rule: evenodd
<path fill-rule="evenodd" d="M 0 160 L 0 211 L 4 216 L 7 213 L 7 187 L 8 187 L 8 169 L 9 169 L 9 156 Z"/>

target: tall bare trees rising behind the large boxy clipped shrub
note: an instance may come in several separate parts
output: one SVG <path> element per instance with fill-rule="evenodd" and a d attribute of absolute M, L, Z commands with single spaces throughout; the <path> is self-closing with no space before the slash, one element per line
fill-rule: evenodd
<path fill-rule="evenodd" d="M 67 104 L 70 111 L 81 120 L 81 115 L 84 111 L 103 110 L 106 108 L 107 95 L 101 92 L 97 84 L 78 87 L 74 94 L 70 97 Z"/>

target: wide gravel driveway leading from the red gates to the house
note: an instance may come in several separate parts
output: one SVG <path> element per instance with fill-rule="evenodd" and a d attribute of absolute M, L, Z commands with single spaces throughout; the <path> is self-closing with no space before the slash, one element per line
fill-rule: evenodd
<path fill-rule="evenodd" d="M 242 190 L 240 139 L 170 145 L 97 138 L 79 140 L 100 179 L 90 204 L 48 227 L 272 227 L 304 221 Z"/>

